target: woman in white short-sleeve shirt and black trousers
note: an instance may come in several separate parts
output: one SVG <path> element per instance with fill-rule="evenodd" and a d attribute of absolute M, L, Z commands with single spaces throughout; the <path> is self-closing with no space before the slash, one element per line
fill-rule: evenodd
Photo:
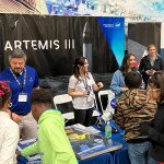
<path fill-rule="evenodd" d="M 87 72 L 89 63 L 85 57 L 79 57 L 73 65 L 73 75 L 69 80 L 68 94 L 73 97 L 74 122 L 84 126 L 91 125 L 94 91 L 103 87 L 103 83 L 95 83 Z"/>

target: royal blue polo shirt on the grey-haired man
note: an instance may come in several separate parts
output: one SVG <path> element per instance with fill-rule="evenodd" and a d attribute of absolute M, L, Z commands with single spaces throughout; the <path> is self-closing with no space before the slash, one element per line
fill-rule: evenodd
<path fill-rule="evenodd" d="M 12 91 L 11 95 L 12 107 L 10 109 L 17 115 L 25 115 L 31 112 L 31 94 L 33 92 L 33 87 L 39 86 L 39 80 L 36 70 L 28 66 L 25 66 L 25 69 L 26 69 L 26 79 L 24 79 L 25 74 L 24 70 L 20 74 L 15 74 L 21 86 L 19 85 L 14 75 L 10 71 L 10 68 L 7 68 L 3 72 L 0 73 L 0 81 L 8 81 Z M 24 80 L 25 85 L 23 86 Z M 21 93 L 27 95 L 26 102 L 19 102 L 19 94 Z"/>

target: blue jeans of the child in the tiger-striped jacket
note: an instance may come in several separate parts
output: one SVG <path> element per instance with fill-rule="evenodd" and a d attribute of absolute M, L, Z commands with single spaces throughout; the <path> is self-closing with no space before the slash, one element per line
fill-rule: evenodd
<path fill-rule="evenodd" d="M 128 143 L 128 154 L 131 164 L 156 164 L 152 157 L 149 156 L 149 150 L 152 144 L 149 141 L 142 143 Z"/>

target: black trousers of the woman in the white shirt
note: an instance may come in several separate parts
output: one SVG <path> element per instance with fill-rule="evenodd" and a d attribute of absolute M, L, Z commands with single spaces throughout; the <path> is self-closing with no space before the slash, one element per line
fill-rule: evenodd
<path fill-rule="evenodd" d="M 74 109 L 74 124 L 81 124 L 85 127 L 91 126 L 93 108 L 89 109 Z"/>

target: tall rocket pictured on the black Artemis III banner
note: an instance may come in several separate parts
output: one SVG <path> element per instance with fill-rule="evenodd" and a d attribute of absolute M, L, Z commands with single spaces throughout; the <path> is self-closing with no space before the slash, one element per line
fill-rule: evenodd
<path fill-rule="evenodd" d="M 89 71 L 92 72 L 92 33 L 86 22 L 83 28 L 83 57 L 87 59 Z"/>

